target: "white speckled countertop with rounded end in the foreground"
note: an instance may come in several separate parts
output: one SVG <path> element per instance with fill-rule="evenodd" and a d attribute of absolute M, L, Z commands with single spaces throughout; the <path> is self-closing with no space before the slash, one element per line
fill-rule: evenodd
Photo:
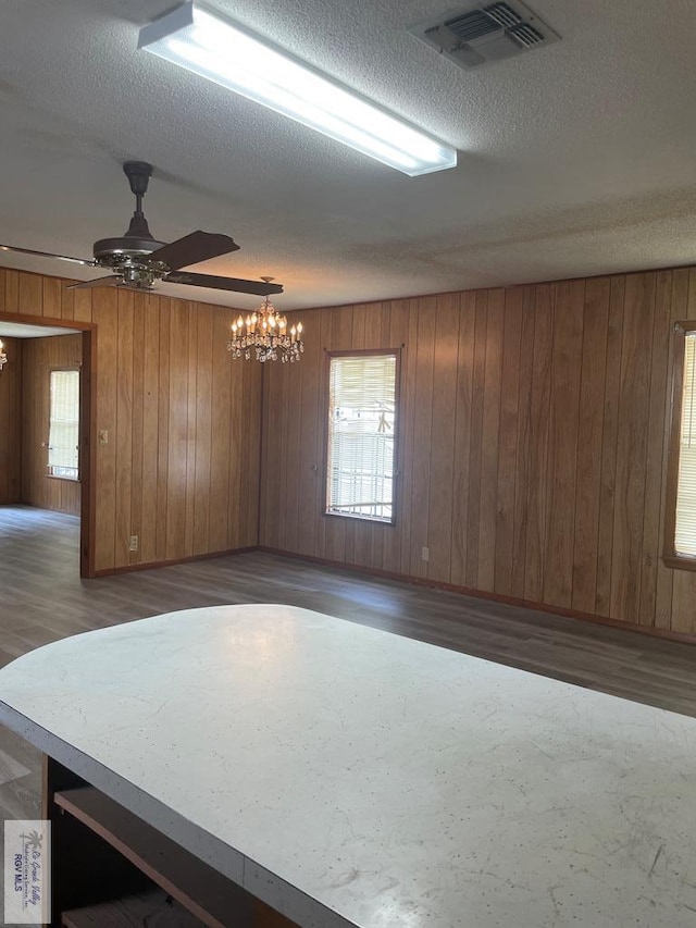
<path fill-rule="evenodd" d="M 307 928 L 694 928 L 696 720 L 290 606 L 0 670 L 0 721 Z"/>

